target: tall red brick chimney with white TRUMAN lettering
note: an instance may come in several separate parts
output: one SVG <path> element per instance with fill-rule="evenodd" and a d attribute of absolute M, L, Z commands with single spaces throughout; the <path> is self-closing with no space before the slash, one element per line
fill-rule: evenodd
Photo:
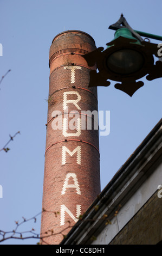
<path fill-rule="evenodd" d="M 82 57 L 95 48 L 81 31 L 60 33 L 50 46 L 42 244 L 59 244 L 100 193 L 97 88 L 88 87 L 96 67 Z"/>

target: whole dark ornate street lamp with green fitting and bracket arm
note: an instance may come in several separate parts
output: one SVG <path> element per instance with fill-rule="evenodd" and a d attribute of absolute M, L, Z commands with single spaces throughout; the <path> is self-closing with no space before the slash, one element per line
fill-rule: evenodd
<path fill-rule="evenodd" d="M 158 60 L 154 64 L 153 55 L 158 57 L 157 44 L 152 44 L 149 39 L 143 40 L 139 34 L 143 32 L 135 32 L 122 14 L 119 21 L 109 28 L 116 32 L 114 39 L 106 44 L 107 49 L 103 51 L 104 48 L 99 47 L 83 55 L 89 66 L 96 64 L 99 70 L 90 71 L 89 87 L 109 86 L 107 80 L 118 81 L 121 84 L 116 83 L 115 88 L 132 96 L 144 86 L 144 82 L 136 82 L 139 78 L 147 74 L 147 80 L 162 77 L 162 62 Z M 155 38 L 155 35 L 143 34 Z"/>

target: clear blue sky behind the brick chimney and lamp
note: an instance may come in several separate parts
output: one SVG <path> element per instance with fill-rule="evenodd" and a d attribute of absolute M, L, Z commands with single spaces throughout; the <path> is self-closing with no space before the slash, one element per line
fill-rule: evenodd
<path fill-rule="evenodd" d="M 96 46 L 106 48 L 114 37 L 108 29 L 121 13 L 138 31 L 162 35 L 161 0 L 142 1 L 51 1 L 1 0 L 0 78 L 0 230 L 15 228 L 15 221 L 41 211 L 46 145 L 47 99 L 49 87 L 49 47 L 63 31 L 76 29 L 90 34 Z M 158 44 L 160 41 L 152 40 Z M 111 113 L 111 131 L 100 136 L 101 189 L 138 147 L 161 118 L 161 78 L 147 81 L 132 97 L 111 86 L 98 88 L 99 110 Z M 159 184 L 157 184 L 158 186 Z M 22 230 L 40 231 L 41 218 L 28 222 Z M 7 240 L 3 244 L 35 244 L 38 240 Z"/>

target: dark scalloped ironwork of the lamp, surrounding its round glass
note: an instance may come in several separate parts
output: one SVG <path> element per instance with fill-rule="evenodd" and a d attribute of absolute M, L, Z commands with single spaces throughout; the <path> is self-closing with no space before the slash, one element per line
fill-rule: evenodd
<path fill-rule="evenodd" d="M 96 70 L 90 71 L 89 87 L 109 86 L 111 82 L 107 80 L 118 81 L 121 84 L 116 83 L 115 88 L 132 96 L 140 87 L 144 86 L 144 82 L 136 82 L 136 80 L 146 75 L 146 79 L 149 81 L 162 77 L 162 62 L 158 60 L 154 64 L 153 57 L 153 55 L 158 57 L 158 45 L 141 39 L 140 35 L 133 31 L 123 16 L 114 25 L 111 25 L 112 27 L 115 30 L 117 27 L 120 31 L 122 31 L 121 28 L 126 28 L 132 35 L 121 36 L 122 33 L 121 35 L 119 33 L 116 39 L 106 44 L 108 47 L 105 51 L 103 51 L 103 47 L 99 47 L 90 53 L 82 55 L 89 66 L 96 64 L 99 70 L 99 72 L 96 72 Z M 139 56 L 141 64 L 139 63 L 138 69 L 136 68 L 132 72 L 118 72 L 119 68 L 115 70 L 110 64 L 108 65 L 109 57 L 116 52 L 121 53 L 122 51 L 132 51 L 132 53 L 134 52 L 134 56 Z"/>

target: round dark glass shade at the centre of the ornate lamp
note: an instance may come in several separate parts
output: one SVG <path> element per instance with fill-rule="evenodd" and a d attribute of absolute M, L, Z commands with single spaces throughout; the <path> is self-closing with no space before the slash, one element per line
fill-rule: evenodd
<path fill-rule="evenodd" d="M 107 67 L 116 74 L 128 75 L 137 72 L 144 65 L 144 57 L 138 51 L 121 49 L 107 57 Z"/>

